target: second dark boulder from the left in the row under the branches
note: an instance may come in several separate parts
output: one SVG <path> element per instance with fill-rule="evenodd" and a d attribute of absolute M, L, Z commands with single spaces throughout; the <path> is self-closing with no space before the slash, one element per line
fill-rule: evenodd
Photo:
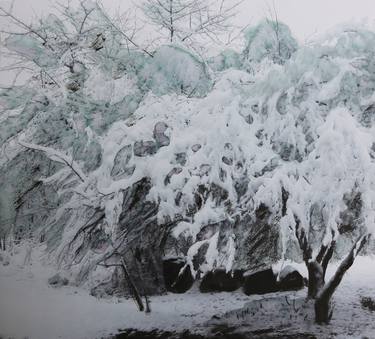
<path fill-rule="evenodd" d="M 208 272 L 202 279 L 199 290 L 207 292 L 232 292 L 239 289 L 243 283 L 243 272 L 225 272 L 216 270 Z"/>

